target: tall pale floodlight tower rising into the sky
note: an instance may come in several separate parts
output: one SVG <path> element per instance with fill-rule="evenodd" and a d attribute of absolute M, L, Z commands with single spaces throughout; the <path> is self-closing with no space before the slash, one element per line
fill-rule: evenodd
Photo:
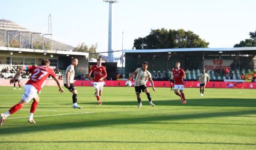
<path fill-rule="evenodd" d="M 109 2 L 109 15 L 108 15 L 108 62 L 114 61 L 112 52 L 112 4 L 118 2 L 118 0 L 103 0 L 103 2 Z"/>

